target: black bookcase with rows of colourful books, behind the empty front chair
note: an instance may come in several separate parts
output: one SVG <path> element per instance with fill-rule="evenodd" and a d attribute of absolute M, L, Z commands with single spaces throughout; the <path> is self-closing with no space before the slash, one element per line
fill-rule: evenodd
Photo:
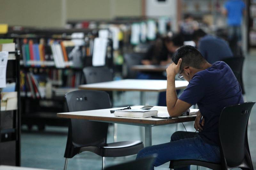
<path fill-rule="evenodd" d="M 74 38 L 71 37 L 72 33 L 84 33 L 84 37 Z M 27 125 L 28 129 L 37 125 L 39 130 L 43 130 L 45 125 L 68 126 L 68 121 L 57 118 L 56 113 L 67 112 L 65 93 L 75 90 L 80 84 L 86 83 L 83 68 L 92 66 L 92 52 L 88 51 L 92 51 L 91 45 L 94 38 L 98 36 L 98 30 L 24 28 L 20 31 L 9 31 L 8 36 L 17 42 L 17 47 L 20 49 L 21 58 L 23 59 L 20 71 L 21 124 Z M 56 57 L 64 58 L 63 47 L 60 44 L 64 41 L 68 43 L 71 40 L 84 42 L 84 45 L 79 46 L 76 50 L 78 53 L 75 54 L 79 55 L 79 66 L 69 65 L 69 61 L 66 60 L 65 66 L 56 65 Z M 52 44 L 57 44 L 59 48 L 50 45 L 50 41 Z M 44 50 L 40 48 L 40 45 L 44 46 Z M 34 59 L 31 58 L 30 47 L 39 48 L 40 50 L 37 50 L 39 53 L 44 51 L 44 61 L 41 58 L 40 61 L 34 61 L 37 59 L 35 57 Z M 68 47 L 65 46 L 65 49 L 68 53 Z M 61 54 L 58 50 L 62 51 Z M 33 54 L 38 55 L 35 51 L 33 51 Z M 46 55 L 48 59 L 46 59 Z M 108 39 L 106 55 L 106 66 L 112 69 L 113 48 L 110 39 Z M 74 63 L 73 60 L 72 62 Z"/>

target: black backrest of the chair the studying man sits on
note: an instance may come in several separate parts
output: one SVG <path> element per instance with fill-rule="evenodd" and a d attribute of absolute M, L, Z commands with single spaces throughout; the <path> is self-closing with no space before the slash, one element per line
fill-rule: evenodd
<path fill-rule="evenodd" d="M 254 104 L 255 102 L 246 102 L 229 106 L 223 108 L 221 112 L 219 134 L 221 149 L 227 166 L 240 165 L 246 152 L 249 152 L 247 123 Z"/>

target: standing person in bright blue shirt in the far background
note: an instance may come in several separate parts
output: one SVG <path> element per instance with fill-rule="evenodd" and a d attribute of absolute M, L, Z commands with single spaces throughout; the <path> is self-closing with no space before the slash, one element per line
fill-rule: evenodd
<path fill-rule="evenodd" d="M 228 0 L 224 4 L 222 13 L 227 16 L 228 41 L 233 49 L 237 49 L 237 42 L 241 41 L 241 23 L 245 14 L 245 4 L 242 0 Z M 240 45 L 240 44 L 239 44 Z"/>

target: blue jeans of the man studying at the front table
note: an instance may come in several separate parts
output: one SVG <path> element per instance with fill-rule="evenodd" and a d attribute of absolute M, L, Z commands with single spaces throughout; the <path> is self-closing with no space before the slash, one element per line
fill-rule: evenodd
<path fill-rule="evenodd" d="M 145 147 L 139 151 L 136 159 L 147 157 L 154 153 L 157 154 L 157 158 L 152 169 L 154 169 L 154 166 L 160 166 L 170 160 L 177 159 L 220 162 L 219 146 L 205 143 L 198 133 L 195 132 L 177 131 L 172 134 L 171 142 Z M 190 166 L 179 168 L 179 170 L 181 169 L 189 170 Z"/>

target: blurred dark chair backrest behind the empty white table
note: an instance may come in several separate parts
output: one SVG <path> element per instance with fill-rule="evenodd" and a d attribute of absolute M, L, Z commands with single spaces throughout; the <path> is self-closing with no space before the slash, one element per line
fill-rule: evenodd
<path fill-rule="evenodd" d="M 85 67 L 83 72 L 87 84 L 113 80 L 112 73 L 108 67 Z"/>

